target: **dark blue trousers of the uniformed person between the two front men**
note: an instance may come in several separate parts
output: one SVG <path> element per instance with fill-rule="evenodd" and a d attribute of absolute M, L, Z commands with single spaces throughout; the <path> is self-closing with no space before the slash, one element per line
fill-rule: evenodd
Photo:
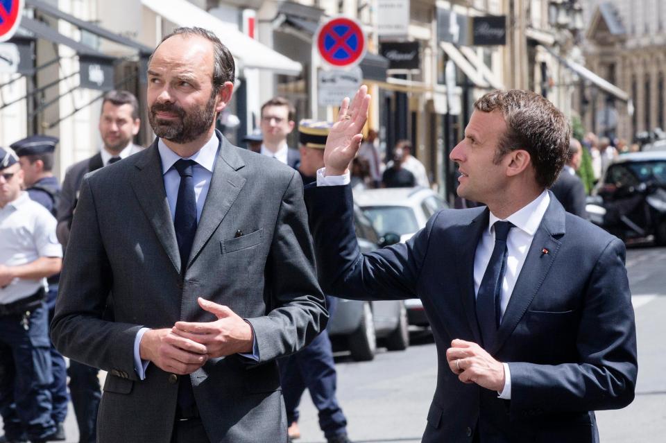
<path fill-rule="evenodd" d="M 327 297 L 329 311 L 334 309 L 335 302 Z M 280 360 L 280 380 L 288 424 L 298 422 L 300 397 L 307 388 L 319 412 L 319 427 L 325 437 L 347 432 L 347 419 L 335 397 L 337 376 L 327 331 L 296 354 Z"/>

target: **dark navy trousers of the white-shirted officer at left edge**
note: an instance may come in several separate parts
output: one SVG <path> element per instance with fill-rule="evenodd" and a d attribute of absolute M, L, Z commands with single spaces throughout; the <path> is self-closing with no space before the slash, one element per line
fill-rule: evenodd
<path fill-rule="evenodd" d="M 0 415 L 7 440 L 44 440 L 56 431 L 46 306 L 26 312 L 0 316 Z"/>

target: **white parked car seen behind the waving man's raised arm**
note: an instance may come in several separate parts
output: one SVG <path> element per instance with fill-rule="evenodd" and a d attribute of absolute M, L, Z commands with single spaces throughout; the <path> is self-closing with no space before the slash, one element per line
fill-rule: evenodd
<path fill-rule="evenodd" d="M 425 227 L 433 214 L 448 207 L 428 188 L 364 189 L 354 192 L 354 200 L 380 236 L 398 234 L 403 242 Z M 420 299 L 405 300 L 404 304 L 409 324 L 429 325 Z"/>

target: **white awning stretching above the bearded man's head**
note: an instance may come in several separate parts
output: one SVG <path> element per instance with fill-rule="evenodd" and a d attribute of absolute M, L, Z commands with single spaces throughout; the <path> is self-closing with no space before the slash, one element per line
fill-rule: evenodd
<path fill-rule="evenodd" d="M 273 51 L 268 46 L 210 15 L 186 0 L 141 0 L 142 4 L 178 26 L 200 26 L 214 32 L 228 47 L 236 62 L 245 68 L 269 69 L 275 73 L 298 76 L 299 62 Z"/>

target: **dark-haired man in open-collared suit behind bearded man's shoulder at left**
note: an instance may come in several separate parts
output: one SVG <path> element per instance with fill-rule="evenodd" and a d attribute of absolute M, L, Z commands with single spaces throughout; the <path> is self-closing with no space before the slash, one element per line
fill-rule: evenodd
<path fill-rule="evenodd" d="M 65 173 L 65 180 L 62 182 L 56 231 L 62 247 L 67 247 L 69 228 L 76 209 L 83 176 L 142 150 L 142 146 L 132 142 L 140 127 L 139 102 L 134 94 L 127 91 L 110 91 L 104 94 L 102 112 L 99 116 L 102 147 L 99 153 L 72 165 Z M 72 257 L 72 259 L 76 259 L 76 257 Z M 78 424 L 78 441 L 95 443 L 97 440 L 95 432 L 97 409 L 102 397 L 98 378 L 99 369 L 70 360 L 67 374 L 69 375 L 71 404 L 74 406 L 76 424 Z"/>

